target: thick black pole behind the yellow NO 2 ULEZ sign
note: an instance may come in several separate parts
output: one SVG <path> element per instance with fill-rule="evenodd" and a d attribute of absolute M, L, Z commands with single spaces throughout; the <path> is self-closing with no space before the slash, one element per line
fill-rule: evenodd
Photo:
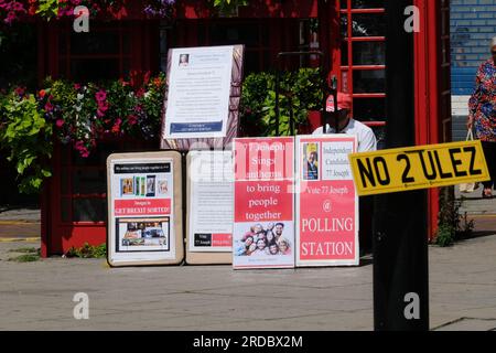
<path fill-rule="evenodd" d="M 386 148 L 414 146 L 413 33 L 405 9 L 386 0 Z M 374 216 L 375 330 L 429 330 L 427 193 L 376 196 Z"/>

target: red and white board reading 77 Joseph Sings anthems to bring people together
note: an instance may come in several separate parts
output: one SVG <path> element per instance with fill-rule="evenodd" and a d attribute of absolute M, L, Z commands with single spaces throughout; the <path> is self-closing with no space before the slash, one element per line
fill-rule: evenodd
<path fill-rule="evenodd" d="M 294 139 L 235 139 L 233 267 L 294 267 Z"/>

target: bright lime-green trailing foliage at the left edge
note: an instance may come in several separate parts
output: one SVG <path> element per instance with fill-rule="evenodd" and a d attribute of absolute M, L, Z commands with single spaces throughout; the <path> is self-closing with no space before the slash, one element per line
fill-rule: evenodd
<path fill-rule="evenodd" d="M 33 95 L 13 92 L 0 101 L 0 148 L 10 151 L 20 178 L 22 193 L 36 192 L 45 178 L 52 175 L 52 126 L 37 109 Z"/>

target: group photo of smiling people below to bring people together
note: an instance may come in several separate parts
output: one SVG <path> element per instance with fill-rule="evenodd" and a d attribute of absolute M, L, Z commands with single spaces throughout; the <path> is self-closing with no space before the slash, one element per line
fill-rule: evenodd
<path fill-rule="evenodd" d="M 292 244 L 284 237 L 284 222 L 257 223 L 235 236 L 235 256 L 291 255 Z"/>

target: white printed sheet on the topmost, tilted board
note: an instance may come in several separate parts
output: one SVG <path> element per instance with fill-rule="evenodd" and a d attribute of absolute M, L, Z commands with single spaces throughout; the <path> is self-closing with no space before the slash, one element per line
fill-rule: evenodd
<path fill-rule="evenodd" d="M 164 138 L 227 135 L 234 46 L 172 50 Z"/>

